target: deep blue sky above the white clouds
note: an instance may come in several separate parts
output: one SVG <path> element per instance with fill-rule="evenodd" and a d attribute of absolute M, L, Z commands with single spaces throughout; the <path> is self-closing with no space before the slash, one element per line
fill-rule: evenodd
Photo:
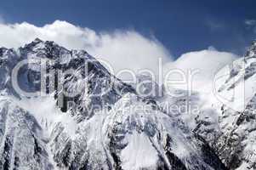
<path fill-rule="evenodd" d="M 255 7 L 255 0 L 9 0 L 1 1 L 0 14 L 9 23 L 66 20 L 95 31 L 134 29 L 179 57 L 209 46 L 243 54 L 256 38 Z"/>

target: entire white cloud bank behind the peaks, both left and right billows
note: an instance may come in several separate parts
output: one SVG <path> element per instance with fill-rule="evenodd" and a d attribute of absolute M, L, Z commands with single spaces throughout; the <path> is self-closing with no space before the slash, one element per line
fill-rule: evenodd
<path fill-rule="evenodd" d="M 144 37 L 136 31 L 117 30 L 96 32 L 87 27 L 74 26 L 56 20 L 42 27 L 29 23 L 7 24 L 0 22 L 0 47 L 18 48 L 36 37 L 57 42 L 69 49 L 84 49 L 97 59 L 108 61 L 115 71 L 151 69 L 158 75 L 158 59 L 164 71 L 178 68 L 183 71 L 199 69 L 196 86 L 209 82 L 213 74 L 236 59 L 235 54 L 219 52 L 210 47 L 197 52 L 182 54 L 174 61 L 170 52 L 155 37 Z M 122 78 L 122 77 L 121 77 Z"/>

